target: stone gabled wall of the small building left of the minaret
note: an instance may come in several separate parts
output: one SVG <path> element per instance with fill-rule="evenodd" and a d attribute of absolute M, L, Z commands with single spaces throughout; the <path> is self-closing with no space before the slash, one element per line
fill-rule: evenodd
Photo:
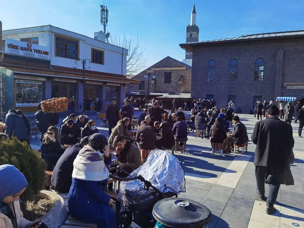
<path fill-rule="evenodd" d="M 144 81 L 145 91 L 148 88 L 148 79 L 144 78 L 144 75 L 148 75 L 150 72 L 150 92 L 162 92 L 168 93 L 169 91 L 176 91 L 180 93 L 191 92 L 191 73 L 192 70 L 183 64 L 179 63 L 171 57 L 166 57 L 153 66 L 140 72 L 132 79 Z M 171 83 L 164 83 L 164 74 L 171 72 Z M 155 80 L 152 76 L 155 75 Z M 137 85 L 128 85 L 127 92 L 138 92 Z"/>

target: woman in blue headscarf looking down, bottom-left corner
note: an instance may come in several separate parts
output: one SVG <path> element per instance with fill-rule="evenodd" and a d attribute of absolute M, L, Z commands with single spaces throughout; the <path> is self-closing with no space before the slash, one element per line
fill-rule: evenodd
<path fill-rule="evenodd" d="M 23 217 L 19 198 L 28 183 L 25 176 L 12 165 L 0 166 L 0 227 L 24 228 L 30 221 Z M 34 226 L 39 227 L 40 224 Z"/>

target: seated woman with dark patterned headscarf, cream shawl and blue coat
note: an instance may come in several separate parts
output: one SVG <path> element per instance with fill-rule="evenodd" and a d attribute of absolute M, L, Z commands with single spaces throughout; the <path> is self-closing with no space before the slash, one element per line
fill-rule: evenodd
<path fill-rule="evenodd" d="M 116 227 L 115 212 L 110 207 L 115 201 L 105 193 L 109 176 L 106 165 L 109 165 L 110 160 L 106 137 L 95 133 L 73 163 L 69 213 L 84 222 L 96 223 L 98 228 Z"/>

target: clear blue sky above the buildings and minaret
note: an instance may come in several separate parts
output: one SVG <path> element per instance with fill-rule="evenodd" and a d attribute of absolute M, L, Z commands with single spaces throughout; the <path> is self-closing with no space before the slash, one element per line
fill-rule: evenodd
<path fill-rule="evenodd" d="M 93 37 L 102 29 L 96 0 L 0 0 L 3 29 L 51 24 Z M 148 55 L 148 65 L 166 56 L 184 57 L 193 1 L 104 0 L 109 9 L 107 30 L 136 38 Z M 212 40 L 272 31 L 304 29 L 303 0 L 247 0 L 195 2 L 199 40 Z"/>

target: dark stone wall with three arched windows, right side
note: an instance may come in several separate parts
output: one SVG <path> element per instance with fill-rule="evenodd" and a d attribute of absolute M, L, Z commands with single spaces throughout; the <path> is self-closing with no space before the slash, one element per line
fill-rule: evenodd
<path fill-rule="evenodd" d="M 255 60 L 264 59 L 264 80 L 254 81 Z M 208 62 L 214 59 L 215 81 L 207 81 Z M 229 81 L 229 63 L 238 60 L 238 81 Z M 277 96 L 304 97 L 304 39 L 255 41 L 236 44 L 194 46 L 192 96 L 214 95 L 217 106 L 226 107 L 236 95 L 236 108 L 249 113 L 253 96 L 276 100 Z M 287 89 L 285 83 L 302 85 Z M 301 89 L 303 87 L 303 89 Z"/>

